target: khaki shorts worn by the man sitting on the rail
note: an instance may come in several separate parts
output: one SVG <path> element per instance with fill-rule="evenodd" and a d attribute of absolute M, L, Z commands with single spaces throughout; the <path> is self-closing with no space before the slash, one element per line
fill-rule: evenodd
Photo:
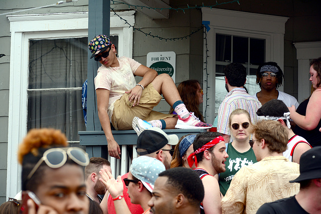
<path fill-rule="evenodd" d="M 161 112 L 152 111 L 162 99 L 162 96 L 154 89 L 152 84 L 148 84 L 142 91 L 139 105 L 132 106 L 128 99 L 129 94 L 124 94 L 114 103 L 114 110 L 111 116 L 111 123 L 116 130 L 130 130 L 134 117 L 142 120 L 161 120 L 176 116 L 175 114 L 163 114 Z"/>

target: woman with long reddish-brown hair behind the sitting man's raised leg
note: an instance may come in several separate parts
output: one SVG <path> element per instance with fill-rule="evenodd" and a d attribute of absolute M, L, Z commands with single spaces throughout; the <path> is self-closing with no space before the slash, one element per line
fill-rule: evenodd
<path fill-rule="evenodd" d="M 186 80 L 181 82 L 177 89 L 187 110 L 194 112 L 196 117 L 205 122 L 199 110 L 199 105 L 203 103 L 203 89 L 200 82 L 197 80 Z M 171 108 L 170 114 L 176 114 L 173 108 Z"/>

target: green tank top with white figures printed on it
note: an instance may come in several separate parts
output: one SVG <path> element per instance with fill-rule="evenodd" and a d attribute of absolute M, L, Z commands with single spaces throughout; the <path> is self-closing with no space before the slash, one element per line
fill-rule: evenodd
<path fill-rule="evenodd" d="M 252 148 L 241 153 L 236 151 L 236 149 L 232 146 L 232 143 L 229 143 L 227 146 L 227 154 L 229 157 L 225 161 L 226 170 L 219 175 L 219 185 L 223 195 L 225 195 L 227 189 L 229 188 L 235 173 L 240 170 L 241 167 L 252 165 L 253 163 L 257 162 Z"/>

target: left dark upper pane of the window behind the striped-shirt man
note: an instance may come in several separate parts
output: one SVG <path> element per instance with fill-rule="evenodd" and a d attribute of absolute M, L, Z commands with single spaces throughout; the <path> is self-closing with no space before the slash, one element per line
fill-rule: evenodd
<path fill-rule="evenodd" d="M 231 36 L 216 34 L 216 61 L 231 62 Z"/>

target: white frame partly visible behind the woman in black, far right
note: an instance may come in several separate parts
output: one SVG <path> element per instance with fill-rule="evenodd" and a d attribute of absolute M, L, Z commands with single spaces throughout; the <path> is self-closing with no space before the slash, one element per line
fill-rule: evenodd
<path fill-rule="evenodd" d="M 301 103 L 311 95 L 310 60 L 321 56 L 321 42 L 294 43 L 297 59 L 297 101 Z"/>

